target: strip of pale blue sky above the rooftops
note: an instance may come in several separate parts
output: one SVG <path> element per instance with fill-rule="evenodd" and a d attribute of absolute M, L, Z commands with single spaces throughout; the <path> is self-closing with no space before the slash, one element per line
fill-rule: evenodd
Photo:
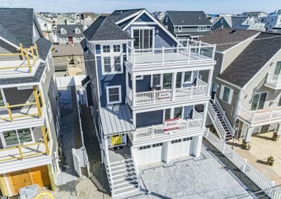
<path fill-rule="evenodd" d="M 268 2 L 268 3 L 267 3 Z M 279 6 L 279 7 L 278 7 Z M 242 13 L 281 8 L 280 0 L 1 0 L 0 7 L 34 8 L 37 12 L 111 13 L 117 9 L 147 8 L 148 11 L 204 11 L 205 13 Z"/>

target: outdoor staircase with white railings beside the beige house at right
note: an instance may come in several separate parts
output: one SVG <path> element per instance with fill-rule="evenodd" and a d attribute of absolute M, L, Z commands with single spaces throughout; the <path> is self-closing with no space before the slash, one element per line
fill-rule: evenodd
<path fill-rule="evenodd" d="M 218 133 L 218 137 L 223 141 L 228 141 L 233 138 L 233 128 L 228 121 L 225 111 L 219 104 L 218 99 L 210 100 L 208 104 L 208 114 L 211 122 Z"/>

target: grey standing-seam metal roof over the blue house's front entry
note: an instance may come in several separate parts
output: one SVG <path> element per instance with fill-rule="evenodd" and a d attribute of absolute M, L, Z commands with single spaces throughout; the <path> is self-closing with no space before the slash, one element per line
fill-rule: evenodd
<path fill-rule="evenodd" d="M 104 135 L 136 130 L 130 108 L 125 104 L 100 108 L 100 121 Z"/>

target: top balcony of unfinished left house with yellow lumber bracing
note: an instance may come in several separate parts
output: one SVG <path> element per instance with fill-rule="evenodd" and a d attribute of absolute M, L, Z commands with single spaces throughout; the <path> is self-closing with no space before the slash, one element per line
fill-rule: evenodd
<path fill-rule="evenodd" d="M 1 61 L 0 78 L 34 76 L 39 67 L 37 44 L 34 43 L 30 48 L 22 48 L 20 43 L 20 48 L 17 50 L 18 53 L 0 53 L 0 58 L 8 58 L 6 61 Z"/>

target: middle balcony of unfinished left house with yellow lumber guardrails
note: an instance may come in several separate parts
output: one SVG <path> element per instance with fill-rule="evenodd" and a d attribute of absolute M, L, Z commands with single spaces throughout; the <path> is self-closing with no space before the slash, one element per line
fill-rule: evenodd
<path fill-rule="evenodd" d="M 24 99 L 24 97 L 17 98 L 17 96 L 20 96 L 17 95 L 17 92 L 20 91 L 17 90 L 14 92 L 12 89 L 13 88 L 4 89 L 4 93 L 9 93 L 3 96 L 4 99 L 13 100 L 13 104 L 5 102 L 5 100 L 4 106 L 0 107 L 0 129 L 6 128 L 9 124 L 13 125 L 14 123 L 34 122 L 34 120 L 41 118 L 44 109 L 41 90 L 37 90 L 36 86 L 34 86 L 33 89 L 28 89 L 28 91 L 25 90 L 25 93 L 28 92 L 28 95 L 29 92 L 33 93 L 30 96 L 27 96 L 28 99 Z M 23 91 L 21 92 L 23 93 Z"/>

